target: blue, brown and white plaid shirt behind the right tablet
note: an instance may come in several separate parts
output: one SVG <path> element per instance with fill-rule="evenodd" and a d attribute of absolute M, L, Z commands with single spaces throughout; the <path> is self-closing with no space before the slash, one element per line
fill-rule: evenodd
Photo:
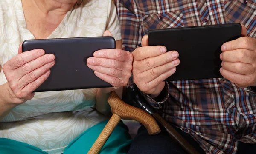
<path fill-rule="evenodd" d="M 134 51 L 149 29 L 241 23 L 256 37 L 256 0 L 115 0 L 123 47 Z M 221 37 L 221 36 L 220 36 Z M 238 141 L 256 143 L 256 95 L 224 78 L 168 83 L 162 116 L 210 154 L 235 154 Z"/>

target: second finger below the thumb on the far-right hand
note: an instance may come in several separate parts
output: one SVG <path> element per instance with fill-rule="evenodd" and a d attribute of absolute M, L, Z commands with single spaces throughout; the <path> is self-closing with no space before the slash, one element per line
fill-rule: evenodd
<path fill-rule="evenodd" d="M 237 49 L 232 51 L 225 51 L 220 54 L 220 58 L 225 62 L 242 62 L 253 64 L 256 59 L 256 52 L 246 50 L 246 49 Z"/>

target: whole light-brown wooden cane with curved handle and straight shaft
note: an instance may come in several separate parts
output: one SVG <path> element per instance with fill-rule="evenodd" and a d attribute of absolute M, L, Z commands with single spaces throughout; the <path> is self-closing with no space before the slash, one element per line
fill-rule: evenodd
<path fill-rule="evenodd" d="M 142 123 L 148 131 L 148 134 L 158 134 L 160 133 L 160 128 L 150 114 L 143 111 L 142 109 L 130 106 L 127 103 L 123 102 L 116 92 L 112 92 L 108 98 L 108 103 L 111 106 L 111 111 L 113 113 L 112 117 L 108 121 L 105 128 L 102 130 L 99 137 L 94 142 L 93 146 L 90 148 L 90 151 L 87 154 L 98 154 L 103 145 L 108 140 L 108 137 L 111 135 L 113 130 L 116 128 L 116 125 L 120 122 L 121 119 L 136 120 Z"/>

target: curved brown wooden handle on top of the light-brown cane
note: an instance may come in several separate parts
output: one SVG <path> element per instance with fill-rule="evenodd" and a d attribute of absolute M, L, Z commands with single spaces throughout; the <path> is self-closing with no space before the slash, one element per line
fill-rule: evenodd
<path fill-rule="evenodd" d="M 111 111 L 113 114 L 119 115 L 122 119 L 136 120 L 142 123 L 145 128 L 148 130 L 148 134 L 158 134 L 160 133 L 160 128 L 150 114 L 143 111 L 140 108 L 130 106 L 127 103 L 123 102 L 116 92 L 112 92 L 108 98 L 108 103 L 111 106 Z"/>

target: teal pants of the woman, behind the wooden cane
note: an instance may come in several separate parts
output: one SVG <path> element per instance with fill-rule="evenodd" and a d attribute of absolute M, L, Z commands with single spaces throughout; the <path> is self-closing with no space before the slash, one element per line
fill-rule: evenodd
<path fill-rule="evenodd" d="M 108 120 L 103 121 L 84 131 L 81 135 L 79 135 L 79 137 L 77 137 L 67 146 L 63 154 L 87 154 L 107 123 Z M 128 133 L 127 126 L 123 123 L 119 123 L 103 146 L 100 154 L 126 154 L 130 144 L 131 136 Z M 26 143 L 0 138 L 0 154 L 47 153 Z"/>

